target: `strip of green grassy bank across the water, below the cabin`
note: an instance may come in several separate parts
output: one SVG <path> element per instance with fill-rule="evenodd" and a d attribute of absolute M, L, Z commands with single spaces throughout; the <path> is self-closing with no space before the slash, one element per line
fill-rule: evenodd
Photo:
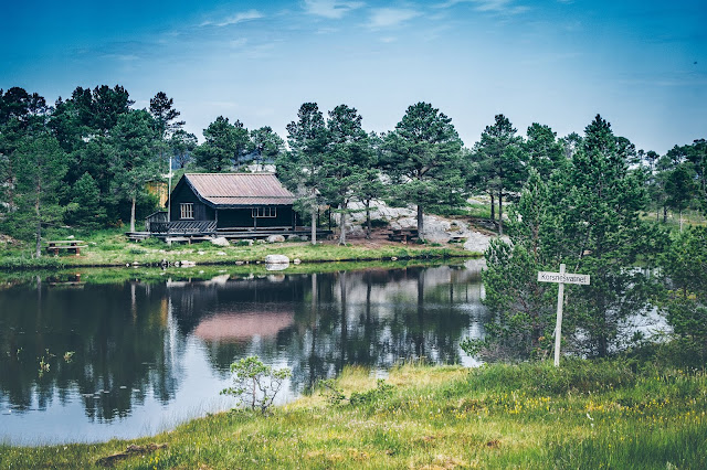
<path fill-rule="evenodd" d="M 48 239 L 65 237 L 66 234 L 55 234 Z M 194 261 L 197 265 L 228 265 L 235 263 L 263 261 L 266 255 L 285 255 L 291 259 L 303 263 L 318 261 L 362 261 L 384 259 L 411 258 L 450 258 L 472 257 L 481 254 L 469 253 L 458 245 L 415 245 L 415 244 L 380 244 L 357 243 L 339 246 L 335 242 L 327 242 L 316 246 L 306 242 L 261 244 L 252 246 L 231 245 L 215 246 L 209 242 L 192 245 L 172 245 L 158 239 L 141 243 L 130 243 L 123 233 L 103 231 L 93 234 L 76 234 L 87 248 L 82 249 L 81 256 L 42 256 L 31 257 L 31 247 L 9 247 L 0 250 L 0 269 L 61 269 L 66 267 L 85 266 L 125 266 L 125 265 L 159 265 L 176 261 Z"/>

